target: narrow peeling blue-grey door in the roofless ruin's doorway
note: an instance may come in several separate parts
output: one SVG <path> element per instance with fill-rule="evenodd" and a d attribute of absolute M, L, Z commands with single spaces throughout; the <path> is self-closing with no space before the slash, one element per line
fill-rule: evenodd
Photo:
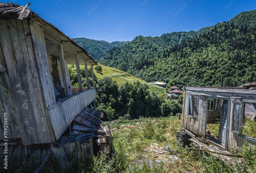
<path fill-rule="evenodd" d="M 226 145 L 227 137 L 227 128 L 228 128 L 228 101 L 222 100 L 220 107 L 220 135 L 219 143 L 222 146 Z"/>

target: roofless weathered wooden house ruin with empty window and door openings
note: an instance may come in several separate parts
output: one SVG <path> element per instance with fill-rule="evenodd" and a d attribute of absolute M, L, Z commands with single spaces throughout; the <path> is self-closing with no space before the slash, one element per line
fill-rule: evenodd
<path fill-rule="evenodd" d="M 182 127 L 205 138 L 207 124 L 219 121 L 218 143 L 225 149 L 242 152 L 243 144 L 255 146 L 256 139 L 243 132 L 246 119 L 255 121 L 254 87 L 184 87 Z"/>

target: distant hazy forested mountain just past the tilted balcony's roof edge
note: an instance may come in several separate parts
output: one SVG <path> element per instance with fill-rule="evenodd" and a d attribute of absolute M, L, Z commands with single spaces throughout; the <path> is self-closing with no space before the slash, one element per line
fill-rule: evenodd
<path fill-rule="evenodd" d="M 77 44 L 82 46 L 94 59 L 99 60 L 114 46 L 124 45 L 130 41 L 114 41 L 112 43 L 106 41 L 92 40 L 87 38 L 74 38 Z"/>

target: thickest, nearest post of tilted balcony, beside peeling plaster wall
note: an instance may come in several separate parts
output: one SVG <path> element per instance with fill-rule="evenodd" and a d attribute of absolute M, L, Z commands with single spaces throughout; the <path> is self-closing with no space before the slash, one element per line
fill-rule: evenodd
<path fill-rule="evenodd" d="M 64 54 L 63 54 L 62 45 L 58 45 L 58 53 L 59 53 L 60 68 L 61 68 L 61 74 L 62 74 L 62 78 L 63 78 L 65 95 L 66 95 L 66 97 L 68 97 L 69 96 L 69 89 L 68 89 L 67 73 L 66 73 L 66 68 L 65 68 L 65 61 L 64 61 Z"/>

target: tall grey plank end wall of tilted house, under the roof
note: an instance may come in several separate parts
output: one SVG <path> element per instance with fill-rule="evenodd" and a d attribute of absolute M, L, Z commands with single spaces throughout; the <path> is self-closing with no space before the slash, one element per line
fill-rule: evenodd
<path fill-rule="evenodd" d="M 37 29 L 36 33 L 39 30 L 40 33 L 42 32 L 41 28 L 37 27 Z M 44 47 L 43 42 L 39 45 L 41 40 L 33 39 L 35 44 L 33 45 L 31 36 L 25 35 L 25 32 L 32 32 L 25 19 L 0 20 L 0 42 L 8 71 L 9 89 L 13 94 L 16 119 L 23 144 L 50 143 L 54 142 L 55 138 L 49 116 L 44 111 L 46 108 L 44 97 L 50 92 L 49 90 L 42 92 L 41 85 L 49 84 L 44 81 L 47 78 L 42 77 L 42 72 L 46 71 L 42 68 L 48 64 L 48 61 L 42 62 L 43 57 L 39 57 L 38 52 L 35 60 L 34 48 L 39 50 L 40 47 Z M 35 37 L 35 31 L 32 35 Z M 47 103 L 53 104 L 49 101 Z"/>

